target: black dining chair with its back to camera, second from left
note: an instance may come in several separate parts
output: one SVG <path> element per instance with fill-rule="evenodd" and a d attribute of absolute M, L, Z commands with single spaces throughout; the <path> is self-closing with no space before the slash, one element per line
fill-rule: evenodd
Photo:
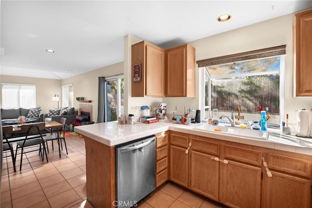
<path fill-rule="evenodd" d="M 43 141 L 43 136 L 41 131 L 45 129 L 45 122 L 33 123 L 33 124 L 26 124 L 21 126 L 21 132 L 26 132 L 26 136 L 23 140 L 17 142 L 16 151 L 15 151 L 15 158 L 17 157 L 18 149 L 21 149 L 20 152 L 20 170 L 22 166 L 22 159 L 23 153 L 28 153 L 37 150 L 30 150 L 25 151 L 25 148 L 38 146 L 39 145 L 39 154 L 42 155 L 42 161 L 44 160 L 44 153 L 46 156 L 46 160 L 48 162 L 48 155 L 45 151 L 45 144 Z M 41 153 L 41 145 L 43 146 L 43 152 Z"/>

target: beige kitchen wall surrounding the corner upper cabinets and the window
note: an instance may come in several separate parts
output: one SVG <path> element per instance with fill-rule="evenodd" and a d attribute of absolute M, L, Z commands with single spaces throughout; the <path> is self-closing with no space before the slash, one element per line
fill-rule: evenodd
<path fill-rule="evenodd" d="M 285 89 L 285 102 L 281 109 L 281 118 L 289 113 L 291 124 L 296 124 L 296 111 L 311 109 L 311 97 L 293 97 L 293 62 L 292 62 L 292 22 L 294 14 L 285 15 L 275 19 L 248 25 L 232 31 L 228 31 L 215 36 L 198 39 L 189 42 L 195 47 L 196 60 L 206 58 L 225 56 L 235 53 L 268 48 L 278 45 L 287 45 L 285 56 L 285 80 L 281 82 L 281 88 Z M 140 41 L 137 38 L 129 36 L 125 38 L 125 77 L 128 77 L 128 88 L 131 89 L 131 45 Z M 126 58 L 127 57 L 127 58 Z M 126 63 L 127 62 L 127 63 Z M 170 113 L 174 105 L 178 105 L 178 114 L 184 113 L 184 106 L 194 109 L 201 109 L 201 73 L 196 65 L 196 96 L 195 98 L 137 98 L 131 97 L 131 91 L 128 92 L 128 111 L 132 112 L 136 105 L 153 105 L 155 109 L 160 101 L 167 102 L 167 112 Z M 127 75 L 127 76 L 126 76 Z M 282 91 L 281 91 L 282 92 Z"/>

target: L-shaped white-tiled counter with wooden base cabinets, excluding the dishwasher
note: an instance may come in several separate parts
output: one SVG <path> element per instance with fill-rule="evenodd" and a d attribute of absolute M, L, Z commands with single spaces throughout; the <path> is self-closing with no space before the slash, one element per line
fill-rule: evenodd
<path fill-rule="evenodd" d="M 114 207 L 115 145 L 169 132 L 167 180 L 230 207 L 310 207 L 310 139 L 251 139 L 194 129 L 200 125 L 208 124 L 107 122 L 75 127 L 85 139 L 87 200 L 93 207 Z"/>

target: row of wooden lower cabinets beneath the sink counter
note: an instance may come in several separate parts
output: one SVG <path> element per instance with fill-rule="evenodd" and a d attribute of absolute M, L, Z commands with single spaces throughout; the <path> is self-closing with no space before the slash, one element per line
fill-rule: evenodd
<path fill-rule="evenodd" d="M 179 132 L 169 135 L 169 180 L 176 184 L 231 208 L 311 208 L 312 156 Z"/>

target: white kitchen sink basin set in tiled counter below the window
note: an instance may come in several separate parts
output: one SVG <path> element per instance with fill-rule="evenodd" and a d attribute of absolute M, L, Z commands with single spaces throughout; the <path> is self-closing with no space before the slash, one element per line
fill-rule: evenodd
<path fill-rule="evenodd" d="M 211 124 L 203 124 L 199 127 L 195 127 L 195 130 L 205 131 L 205 132 L 215 132 L 220 134 L 229 134 L 234 136 L 243 136 L 247 138 L 254 138 L 254 139 L 267 139 L 267 132 L 262 132 L 260 130 L 254 129 L 241 129 L 239 127 L 232 127 L 227 125 L 217 125 L 213 126 Z"/>

